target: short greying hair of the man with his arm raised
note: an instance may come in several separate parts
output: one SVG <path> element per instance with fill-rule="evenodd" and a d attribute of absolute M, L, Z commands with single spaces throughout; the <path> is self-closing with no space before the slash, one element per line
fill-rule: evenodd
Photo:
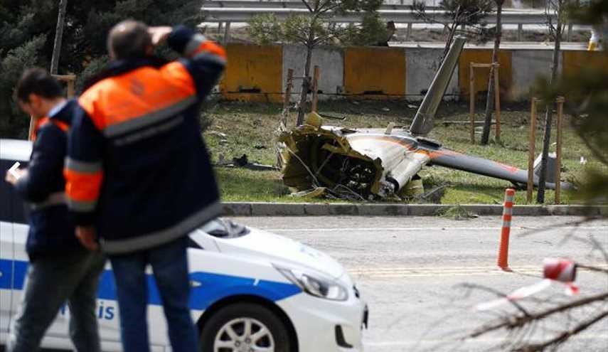
<path fill-rule="evenodd" d="M 142 58 L 152 44 L 146 23 L 127 20 L 110 29 L 107 36 L 107 50 L 114 54 L 114 59 Z"/>

